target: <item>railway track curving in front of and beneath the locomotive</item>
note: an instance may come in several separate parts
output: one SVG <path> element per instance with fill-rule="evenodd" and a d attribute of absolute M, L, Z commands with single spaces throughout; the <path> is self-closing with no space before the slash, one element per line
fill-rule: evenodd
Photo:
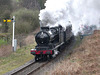
<path fill-rule="evenodd" d="M 66 49 L 66 48 L 65 48 Z M 60 56 L 63 52 L 61 52 L 59 55 Z M 14 69 L 4 75 L 33 75 L 35 72 L 37 72 L 39 69 L 43 68 L 45 65 L 50 63 L 52 60 L 56 59 L 57 56 L 49 61 L 46 62 L 35 62 L 35 60 L 31 60 L 24 64 L 23 66 Z"/>

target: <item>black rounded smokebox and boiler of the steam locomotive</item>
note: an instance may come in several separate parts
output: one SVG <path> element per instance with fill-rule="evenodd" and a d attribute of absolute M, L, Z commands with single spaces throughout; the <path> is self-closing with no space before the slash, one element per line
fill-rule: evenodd
<path fill-rule="evenodd" d="M 59 27 L 41 27 L 37 33 L 35 40 L 38 45 L 48 45 L 53 42 L 59 42 Z"/>

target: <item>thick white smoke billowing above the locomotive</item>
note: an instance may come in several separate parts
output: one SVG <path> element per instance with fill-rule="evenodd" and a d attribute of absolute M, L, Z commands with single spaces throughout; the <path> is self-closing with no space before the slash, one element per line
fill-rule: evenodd
<path fill-rule="evenodd" d="M 100 25 L 100 0 L 47 0 L 45 7 L 39 14 L 43 25 L 66 27 L 71 21 L 74 33 L 80 25 Z"/>

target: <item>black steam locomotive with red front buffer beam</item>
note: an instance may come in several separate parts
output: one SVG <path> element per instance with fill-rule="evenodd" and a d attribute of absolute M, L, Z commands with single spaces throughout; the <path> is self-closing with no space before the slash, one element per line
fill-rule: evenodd
<path fill-rule="evenodd" d="M 65 30 L 61 25 L 41 27 L 41 31 L 35 36 L 37 45 L 35 49 L 31 49 L 31 54 L 35 55 L 35 61 L 51 59 L 61 51 L 61 47 L 72 37 L 72 25 L 66 26 Z"/>

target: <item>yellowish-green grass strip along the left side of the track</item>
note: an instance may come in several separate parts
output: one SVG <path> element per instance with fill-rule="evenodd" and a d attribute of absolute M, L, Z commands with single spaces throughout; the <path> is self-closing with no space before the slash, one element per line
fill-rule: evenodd
<path fill-rule="evenodd" d="M 35 44 L 29 45 L 18 49 L 9 56 L 0 57 L 0 75 L 18 68 L 29 60 L 33 59 L 34 56 L 30 54 L 30 49 L 34 47 Z"/>

